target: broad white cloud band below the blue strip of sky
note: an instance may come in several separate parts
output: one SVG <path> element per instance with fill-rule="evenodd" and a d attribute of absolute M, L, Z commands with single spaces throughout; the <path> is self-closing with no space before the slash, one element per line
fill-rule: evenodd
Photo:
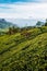
<path fill-rule="evenodd" d="M 0 4 L 0 17 L 47 19 L 47 3 Z"/>

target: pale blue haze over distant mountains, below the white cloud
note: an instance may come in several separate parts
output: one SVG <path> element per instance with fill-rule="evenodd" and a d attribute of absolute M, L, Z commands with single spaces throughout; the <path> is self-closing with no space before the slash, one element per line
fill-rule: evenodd
<path fill-rule="evenodd" d="M 36 25 L 37 21 L 40 21 L 43 23 L 45 22 L 45 20 L 35 20 L 35 19 L 8 19 L 7 21 L 12 22 L 20 27 L 34 26 L 34 25 Z"/>

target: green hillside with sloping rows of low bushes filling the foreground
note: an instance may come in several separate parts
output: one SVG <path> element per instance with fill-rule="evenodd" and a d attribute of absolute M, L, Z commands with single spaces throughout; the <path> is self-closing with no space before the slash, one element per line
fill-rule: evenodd
<path fill-rule="evenodd" d="M 0 36 L 0 71 L 47 71 L 47 26 Z"/>

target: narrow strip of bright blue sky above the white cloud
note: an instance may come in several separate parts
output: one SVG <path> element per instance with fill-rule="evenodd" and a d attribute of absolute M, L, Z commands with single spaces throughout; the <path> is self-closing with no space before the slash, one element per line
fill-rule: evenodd
<path fill-rule="evenodd" d="M 47 0 L 0 0 L 0 3 L 11 2 L 47 2 Z"/>

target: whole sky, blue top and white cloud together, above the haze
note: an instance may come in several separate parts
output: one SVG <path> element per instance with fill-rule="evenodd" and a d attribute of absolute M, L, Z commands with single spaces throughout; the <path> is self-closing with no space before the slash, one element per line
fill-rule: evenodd
<path fill-rule="evenodd" d="M 47 19 L 47 0 L 0 0 L 1 19 Z"/>

